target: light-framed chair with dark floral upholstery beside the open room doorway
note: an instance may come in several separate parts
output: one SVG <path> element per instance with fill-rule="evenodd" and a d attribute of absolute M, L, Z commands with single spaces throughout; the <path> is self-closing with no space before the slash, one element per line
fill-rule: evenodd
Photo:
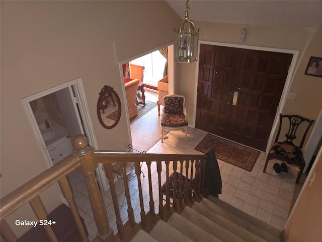
<path fill-rule="evenodd" d="M 183 130 L 188 133 L 188 119 L 185 108 L 185 97 L 177 94 L 166 95 L 163 97 L 164 108 L 161 118 L 162 141 L 164 140 L 165 130 Z"/>

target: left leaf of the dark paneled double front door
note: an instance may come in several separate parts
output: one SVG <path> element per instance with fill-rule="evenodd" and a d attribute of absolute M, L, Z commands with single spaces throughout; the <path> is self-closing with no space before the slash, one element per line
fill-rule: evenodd
<path fill-rule="evenodd" d="M 197 95 L 196 128 L 228 137 L 232 98 L 240 49 L 203 45 Z"/>

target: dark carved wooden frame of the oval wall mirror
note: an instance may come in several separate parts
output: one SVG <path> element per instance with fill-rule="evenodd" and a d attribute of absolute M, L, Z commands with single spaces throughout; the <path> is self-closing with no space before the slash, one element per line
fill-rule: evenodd
<path fill-rule="evenodd" d="M 116 97 L 116 101 L 117 101 L 117 105 L 118 105 L 118 115 L 117 115 L 117 118 L 115 120 L 115 123 L 111 126 L 107 126 L 105 123 L 104 123 L 104 120 L 102 119 L 101 117 L 101 103 L 103 102 L 103 98 L 106 97 L 106 94 L 114 94 L 114 96 Z M 113 129 L 120 121 L 120 118 L 121 118 L 121 100 L 120 100 L 120 97 L 119 95 L 116 93 L 116 91 L 114 91 L 114 88 L 113 87 L 110 87 L 110 86 L 107 86 L 105 85 L 102 90 L 100 91 L 99 93 L 99 99 L 97 101 L 97 116 L 99 118 L 99 121 L 101 123 L 101 125 L 105 128 L 105 129 Z"/>

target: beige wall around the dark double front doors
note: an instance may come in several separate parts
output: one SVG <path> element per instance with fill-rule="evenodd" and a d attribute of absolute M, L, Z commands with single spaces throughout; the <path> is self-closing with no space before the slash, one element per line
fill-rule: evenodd
<path fill-rule="evenodd" d="M 320 33 L 313 29 L 296 29 L 284 27 L 269 27 L 243 24 L 224 24 L 195 22 L 201 29 L 199 40 L 222 42 L 229 44 L 261 46 L 279 49 L 298 50 L 295 73 L 291 80 L 290 92 L 296 93 L 296 99 L 287 99 L 282 113 L 298 114 L 314 119 L 322 109 L 322 79 L 304 75 L 309 56 L 322 56 Z M 247 29 L 246 41 L 239 42 L 241 29 Z M 181 94 L 186 98 L 186 108 L 189 123 L 193 123 L 194 100 L 196 93 L 196 63 L 181 66 Z M 311 128 L 310 131 L 313 129 Z M 309 134 L 308 134 L 309 137 Z M 305 147 L 305 145 L 304 145 Z"/>

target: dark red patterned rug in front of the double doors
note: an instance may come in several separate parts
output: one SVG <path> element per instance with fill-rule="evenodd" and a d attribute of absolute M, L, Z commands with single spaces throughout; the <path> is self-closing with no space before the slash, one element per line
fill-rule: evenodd
<path fill-rule="evenodd" d="M 248 171 L 252 171 L 260 154 L 257 150 L 210 134 L 197 145 L 195 150 L 205 153 L 210 148 L 215 150 L 217 159 Z"/>

